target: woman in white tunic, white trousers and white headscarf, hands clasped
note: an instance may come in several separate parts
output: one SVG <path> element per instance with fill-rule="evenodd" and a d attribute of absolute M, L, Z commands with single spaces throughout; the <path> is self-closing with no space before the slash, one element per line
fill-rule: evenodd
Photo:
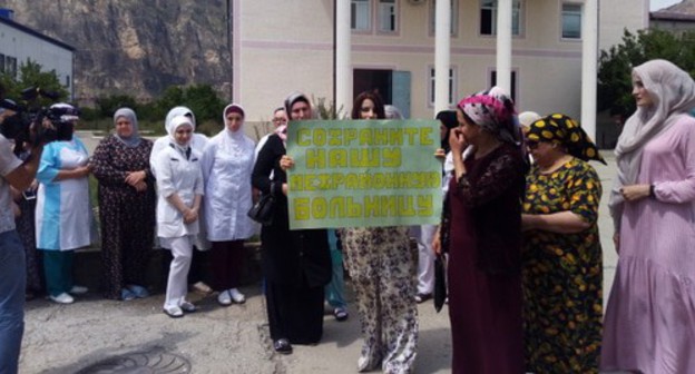
<path fill-rule="evenodd" d="M 200 154 L 190 147 L 193 120 L 186 116 L 172 119 L 170 147 L 163 149 L 155 161 L 157 169 L 157 236 L 172 250 L 164 313 L 172 318 L 195 312 L 186 301 L 187 276 L 193 244 L 198 234 L 198 215 L 203 197 Z"/>

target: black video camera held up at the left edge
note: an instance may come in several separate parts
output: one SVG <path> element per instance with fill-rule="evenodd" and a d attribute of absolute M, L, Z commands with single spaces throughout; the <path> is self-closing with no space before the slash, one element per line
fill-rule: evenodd
<path fill-rule="evenodd" d="M 58 100 L 58 95 L 30 87 L 21 91 L 20 105 L 10 99 L 0 100 L 2 110 L 10 110 L 0 124 L 0 134 L 8 139 L 14 139 L 14 154 L 23 150 L 25 142 L 47 144 L 56 140 L 72 140 L 74 121 L 79 118 L 79 109 L 67 104 L 53 104 L 50 107 L 37 105 L 37 99 L 43 97 Z"/>

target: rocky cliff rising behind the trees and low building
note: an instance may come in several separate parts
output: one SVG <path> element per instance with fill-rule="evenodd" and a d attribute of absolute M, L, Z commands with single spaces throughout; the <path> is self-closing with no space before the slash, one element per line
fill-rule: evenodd
<path fill-rule="evenodd" d="M 138 99 L 170 85 L 231 92 L 228 0 L 4 0 L 14 20 L 76 48 L 80 104 L 102 95 Z"/>

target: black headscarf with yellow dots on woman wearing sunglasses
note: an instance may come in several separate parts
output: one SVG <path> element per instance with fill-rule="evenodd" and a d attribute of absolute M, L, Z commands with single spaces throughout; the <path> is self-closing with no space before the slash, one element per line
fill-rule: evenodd
<path fill-rule="evenodd" d="M 561 114 L 552 114 L 532 122 L 526 134 L 526 139 L 528 141 L 557 144 L 565 147 L 568 154 L 581 160 L 593 159 L 606 164 L 591 138 L 579 124 Z"/>

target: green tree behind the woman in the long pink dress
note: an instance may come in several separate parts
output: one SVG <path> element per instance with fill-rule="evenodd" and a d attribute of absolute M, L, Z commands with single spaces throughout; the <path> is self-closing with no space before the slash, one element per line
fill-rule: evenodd
<path fill-rule="evenodd" d="M 598 110 L 616 115 L 635 111 L 632 69 L 653 59 L 665 59 L 691 76 L 695 72 L 695 31 L 673 33 L 659 29 L 624 31 L 621 43 L 601 51 L 598 68 Z"/>

